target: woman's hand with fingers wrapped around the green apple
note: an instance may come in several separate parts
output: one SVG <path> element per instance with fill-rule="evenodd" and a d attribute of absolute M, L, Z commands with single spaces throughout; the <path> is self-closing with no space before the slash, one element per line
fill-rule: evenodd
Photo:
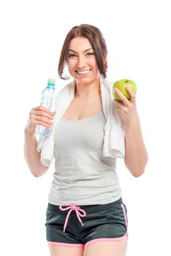
<path fill-rule="evenodd" d="M 135 94 L 129 86 L 126 86 L 126 91 L 128 91 L 130 99 L 126 99 L 123 93 L 117 88 L 115 88 L 115 94 L 118 94 L 122 102 L 119 102 L 118 100 L 114 99 L 117 112 L 121 117 L 121 121 L 125 128 L 132 126 L 136 124 L 137 121 L 139 121 L 139 116 L 136 108 Z"/>

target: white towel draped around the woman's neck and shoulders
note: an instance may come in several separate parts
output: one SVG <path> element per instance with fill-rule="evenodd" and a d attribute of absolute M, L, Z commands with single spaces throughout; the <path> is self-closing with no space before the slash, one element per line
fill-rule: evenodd
<path fill-rule="evenodd" d="M 106 118 L 104 126 L 103 157 L 123 158 L 125 156 L 125 131 L 121 124 L 121 118 L 116 112 L 113 101 L 113 82 L 100 79 L 100 91 L 102 97 L 102 110 Z M 37 151 L 41 151 L 41 163 L 50 166 L 53 160 L 54 131 L 56 125 L 64 116 L 75 96 L 75 80 L 64 86 L 56 97 L 56 115 L 53 118 L 53 129 L 49 137 L 39 136 Z"/>

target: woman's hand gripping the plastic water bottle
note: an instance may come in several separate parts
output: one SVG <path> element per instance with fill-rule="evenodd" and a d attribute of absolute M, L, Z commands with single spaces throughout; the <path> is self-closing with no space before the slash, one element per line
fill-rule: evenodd
<path fill-rule="evenodd" d="M 43 106 L 32 108 L 29 113 L 26 129 L 28 129 L 29 132 L 34 132 L 36 125 L 42 125 L 43 127 L 50 127 L 53 125 L 54 115 L 55 115 L 55 111 L 51 113 L 50 110 L 48 110 Z"/>

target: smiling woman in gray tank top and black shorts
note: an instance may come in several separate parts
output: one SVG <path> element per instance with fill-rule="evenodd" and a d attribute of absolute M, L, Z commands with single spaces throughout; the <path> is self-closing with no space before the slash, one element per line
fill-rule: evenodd
<path fill-rule="evenodd" d="M 107 47 L 101 31 L 86 24 L 73 27 L 66 35 L 58 64 L 62 79 L 68 79 L 64 75 L 65 65 L 74 79 L 75 91 L 54 127 L 56 172 L 45 224 L 50 255 L 123 256 L 126 255 L 128 222 L 115 170 L 117 157 L 102 154 L 104 140 L 107 140 L 104 127 L 109 115 L 104 113 L 102 97 Z M 112 102 L 124 130 L 126 167 L 134 177 L 139 177 L 145 171 L 148 154 L 134 92 L 129 87 L 126 90 L 130 100 L 115 89 L 122 102 L 115 99 Z M 64 98 L 61 97 L 61 102 Z M 56 111 L 55 116 L 58 113 Z M 25 129 L 25 158 L 31 173 L 39 177 L 47 171 L 48 165 L 42 164 L 34 130 L 36 125 L 50 127 L 53 115 L 38 106 L 32 108 L 29 116 Z"/>

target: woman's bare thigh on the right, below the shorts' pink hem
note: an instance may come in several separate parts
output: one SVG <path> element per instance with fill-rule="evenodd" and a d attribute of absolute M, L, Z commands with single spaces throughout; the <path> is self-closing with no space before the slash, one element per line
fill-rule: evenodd
<path fill-rule="evenodd" d="M 127 247 L 127 238 L 122 241 L 102 241 L 88 244 L 83 256 L 125 256 Z"/>

